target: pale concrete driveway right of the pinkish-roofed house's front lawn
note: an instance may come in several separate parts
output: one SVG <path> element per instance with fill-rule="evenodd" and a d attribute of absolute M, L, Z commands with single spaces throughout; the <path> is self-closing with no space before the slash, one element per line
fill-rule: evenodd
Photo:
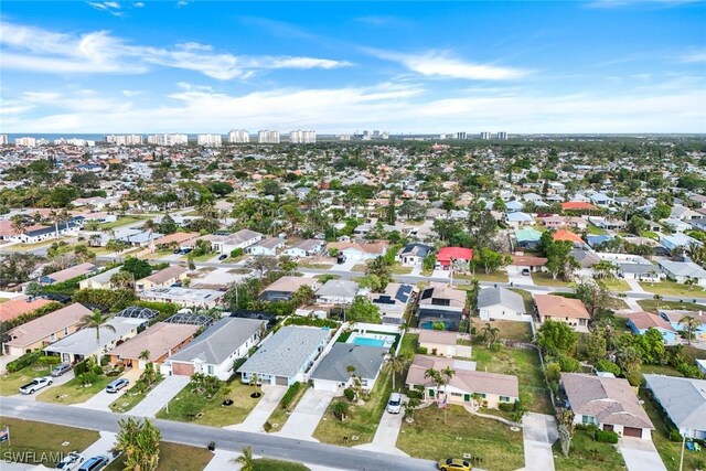
<path fill-rule="evenodd" d="M 527 413 L 522 418 L 526 471 L 554 471 L 552 443 L 559 438 L 556 418 Z"/>

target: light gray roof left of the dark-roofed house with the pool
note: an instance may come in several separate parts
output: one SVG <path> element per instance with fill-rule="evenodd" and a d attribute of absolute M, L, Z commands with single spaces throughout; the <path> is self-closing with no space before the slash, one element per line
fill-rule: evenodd
<path fill-rule="evenodd" d="M 255 352 L 238 372 L 295 376 L 314 351 L 325 344 L 328 336 L 329 331 L 323 329 L 284 327 Z"/>

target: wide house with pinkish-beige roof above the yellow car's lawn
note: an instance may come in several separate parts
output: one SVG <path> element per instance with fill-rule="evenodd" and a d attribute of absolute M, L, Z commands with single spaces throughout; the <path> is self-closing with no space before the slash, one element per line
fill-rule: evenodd
<path fill-rule="evenodd" d="M 451 368 L 456 372 L 449 384 L 437 390 L 434 381 L 426 376 L 430 368 L 442 371 Z M 449 404 L 480 403 L 483 407 L 496 409 L 500 404 L 514 404 L 520 398 L 520 386 L 516 376 L 474 371 L 475 364 L 461 360 L 441 356 L 415 355 L 409 366 L 407 387 L 424 386 L 425 399 L 437 399 Z M 439 397 L 437 398 L 437 393 Z"/>

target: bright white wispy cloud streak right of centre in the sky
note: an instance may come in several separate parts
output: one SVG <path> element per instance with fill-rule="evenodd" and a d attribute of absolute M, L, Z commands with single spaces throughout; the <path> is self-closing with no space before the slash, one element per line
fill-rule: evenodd
<path fill-rule="evenodd" d="M 521 68 L 463 62 L 452 57 L 449 53 L 438 51 L 429 51 L 424 54 L 403 54 L 375 49 L 364 49 L 363 51 L 378 58 L 397 62 L 409 71 L 428 77 L 507 81 L 520 78 L 531 73 Z"/>

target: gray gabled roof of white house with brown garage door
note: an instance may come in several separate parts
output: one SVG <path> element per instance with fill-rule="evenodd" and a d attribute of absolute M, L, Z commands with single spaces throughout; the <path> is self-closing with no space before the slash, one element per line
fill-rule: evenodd
<path fill-rule="evenodd" d="M 245 341 L 255 335 L 264 321 L 256 319 L 224 318 L 211 325 L 171 360 L 192 362 L 200 360 L 210 365 L 223 363 Z"/>

